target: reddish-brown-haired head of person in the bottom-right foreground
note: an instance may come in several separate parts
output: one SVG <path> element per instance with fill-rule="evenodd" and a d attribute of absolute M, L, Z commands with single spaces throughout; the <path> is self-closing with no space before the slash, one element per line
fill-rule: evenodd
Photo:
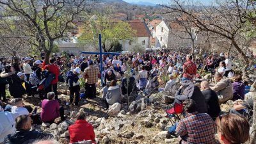
<path fill-rule="evenodd" d="M 221 144 L 245 143 L 250 139 L 250 125 L 240 115 L 221 115 L 215 121 Z"/>

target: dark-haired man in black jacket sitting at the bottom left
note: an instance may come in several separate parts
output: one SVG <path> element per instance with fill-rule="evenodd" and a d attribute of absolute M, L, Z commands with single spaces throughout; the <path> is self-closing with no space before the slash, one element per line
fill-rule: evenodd
<path fill-rule="evenodd" d="M 52 134 L 45 134 L 31 129 L 32 120 L 28 115 L 21 115 L 16 118 L 16 132 L 4 138 L 6 144 L 28 144 L 35 140 L 53 138 Z"/>

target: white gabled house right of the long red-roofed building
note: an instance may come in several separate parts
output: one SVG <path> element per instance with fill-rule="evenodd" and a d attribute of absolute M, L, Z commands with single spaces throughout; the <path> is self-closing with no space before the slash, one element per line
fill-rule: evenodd
<path fill-rule="evenodd" d="M 169 28 L 164 20 L 155 19 L 149 23 L 148 28 L 152 33 L 151 47 L 168 47 Z"/>

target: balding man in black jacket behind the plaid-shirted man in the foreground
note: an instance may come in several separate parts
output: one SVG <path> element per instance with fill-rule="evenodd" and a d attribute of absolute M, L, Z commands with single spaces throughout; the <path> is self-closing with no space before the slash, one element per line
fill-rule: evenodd
<path fill-rule="evenodd" d="M 201 82 L 201 90 L 205 97 L 208 114 L 212 117 L 212 120 L 215 120 L 220 115 L 218 95 L 211 90 L 208 81 Z"/>

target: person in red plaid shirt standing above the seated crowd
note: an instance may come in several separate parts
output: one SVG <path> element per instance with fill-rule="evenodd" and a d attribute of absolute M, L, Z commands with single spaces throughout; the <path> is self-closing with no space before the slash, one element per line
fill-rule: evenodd
<path fill-rule="evenodd" d="M 192 81 L 196 76 L 196 64 L 192 62 L 192 56 L 190 54 L 186 56 L 186 61 L 183 65 L 182 81 Z"/>

